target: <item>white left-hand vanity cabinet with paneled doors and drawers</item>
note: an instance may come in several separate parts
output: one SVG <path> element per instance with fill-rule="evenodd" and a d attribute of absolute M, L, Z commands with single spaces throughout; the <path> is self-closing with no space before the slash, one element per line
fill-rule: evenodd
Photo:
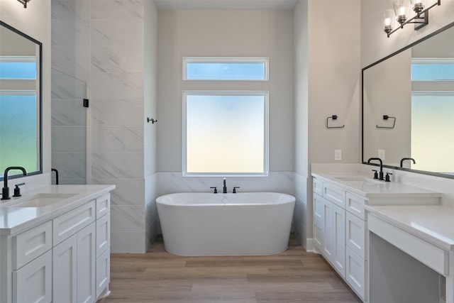
<path fill-rule="evenodd" d="M 0 208 L 11 222 L 35 216 L 16 229 L 0 228 L 1 303 L 93 303 L 109 294 L 109 191 L 114 187 L 88 187 L 93 188 L 86 191 L 89 197 L 81 195 L 55 211 Z"/>

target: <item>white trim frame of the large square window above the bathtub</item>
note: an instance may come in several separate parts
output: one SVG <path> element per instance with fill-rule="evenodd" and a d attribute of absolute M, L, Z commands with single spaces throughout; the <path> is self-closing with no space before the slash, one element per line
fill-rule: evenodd
<path fill-rule="evenodd" d="M 225 94 L 229 96 L 263 96 L 264 97 L 264 117 L 263 122 L 265 123 L 265 129 L 263 130 L 263 172 L 187 172 L 187 128 L 186 128 L 186 101 L 187 96 L 189 95 L 213 95 L 218 96 L 220 94 Z M 197 90 L 197 91 L 183 91 L 183 125 L 182 125 L 182 165 L 183 165 L 183 177 L 267 177 L 269 173 L 268 162 L 269 162 L 269 136 L 268 136 L 268 94 L 267 91 L 206 91 L 206 90 Z"/>

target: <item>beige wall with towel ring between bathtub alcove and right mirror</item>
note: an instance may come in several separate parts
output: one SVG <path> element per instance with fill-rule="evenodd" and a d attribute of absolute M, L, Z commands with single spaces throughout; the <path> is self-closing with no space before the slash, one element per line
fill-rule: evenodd
<path fill-rule="evenodd" d="M 360 161 L 360 0 L 299 1 L 295 19 L 295 187 L 294 231 L 311 249 L 310 164 Z M 326 128 L 326 118 L 338 120 Z"/>

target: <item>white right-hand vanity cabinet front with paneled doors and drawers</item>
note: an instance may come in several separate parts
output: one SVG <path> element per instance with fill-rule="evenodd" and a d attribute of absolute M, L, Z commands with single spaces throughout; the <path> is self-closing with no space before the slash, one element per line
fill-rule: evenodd
<path fill-rule="evenodd" d="M 365 301 L 365 199 L 317 177 L 313 184 L 314 246 Z"/>

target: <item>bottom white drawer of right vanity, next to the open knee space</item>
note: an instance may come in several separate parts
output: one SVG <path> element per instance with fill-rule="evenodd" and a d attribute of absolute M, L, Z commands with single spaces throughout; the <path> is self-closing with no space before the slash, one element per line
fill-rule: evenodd
<path fill-rule="evenodd" d="M 358 296 L 364 301 L 366 297 L 366 262 L 353 250 L 345 248 L 345 278 L 348 285 L 355 290 Z"/>

